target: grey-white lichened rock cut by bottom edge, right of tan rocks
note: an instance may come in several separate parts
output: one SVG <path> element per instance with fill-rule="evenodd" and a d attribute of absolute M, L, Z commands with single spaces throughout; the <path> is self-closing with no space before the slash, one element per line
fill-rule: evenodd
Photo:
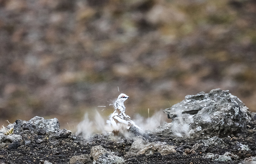
<path fill-rule="evenodd" d="M 94 164 L 124 164 L 124 159 L 117 156 L 114 152 L 102 154 Z"/>

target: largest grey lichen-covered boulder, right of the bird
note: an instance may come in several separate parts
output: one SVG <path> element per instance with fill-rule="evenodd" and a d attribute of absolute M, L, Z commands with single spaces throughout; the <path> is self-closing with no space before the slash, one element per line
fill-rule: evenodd
<path fill-rule="evenodd" d="M 211 138 L 225 137 L 246 131 L 246 121 L 251 120 L 248 108 L 236 96 L 211 90 L 187 95 L 185 100 L 164 110 L 173 122 L 155 130 L 163 135 Z"/>

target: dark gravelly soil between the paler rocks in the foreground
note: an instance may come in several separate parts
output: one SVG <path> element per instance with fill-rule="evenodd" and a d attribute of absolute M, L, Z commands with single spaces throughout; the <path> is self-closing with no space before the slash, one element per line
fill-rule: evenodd
<path fill-rule="evenodd" d="M 175 145 L 177 152 L 161 155 L 154 153 L 151 155 L 138 155 L 125 159 L 128 164 L 135 163 L 178 163 L 178 164 L 195 164 L 195 163 L 234 163 L 237 164 L 250 156 L 256 156 L 256 122 L 252 121 L 247 124 L 247 133 L 239 134 L 237 136 L 224 137 L 222 140 L 226 144 L 225 148 L 222 145 L 204 146 L 200 145 L 201 140 L 182 139 L 155 136 L 150 134 L 144 136 L 149 142 L 162 141 L 169 145 Z M 27 132 L 29 132 L 27 130 Z M 89 140 L 83 140 L 79 136 L 68 136 L 65 138 L 56 139 L 50 134 L 42 133 L 21 133 L 22 140 L 14 141 L 12 143 L 6 142 L 0 150 L 0 163 L 4 164 L 18 164 L 18 163 L 44 163 L 45 160 L 53 164 L 69 163 L 69 160 L 74 155 L 90 154 L 92 146 L 101 145 L 107 150 L 116 152 L 119 156 L 126 154 L 133 140 L 122 139 L 120 142 L 109 140 L 108 134 L 96 134 Z M 238 143 L 248 145 L 249 151 L 241 150 L 237 146 Z M 3 143 L 2 143 L 3 144 Z M 192 146 L 199 144 L 196 150 L 192 151 Z M 225 152 L 230 152 L 238 155 L 238 159 L 232 161 L 220 162 L 204 158 L 207 153 L 223 155 Z M 41 161 L 41 162 L 40 162 Z"/>

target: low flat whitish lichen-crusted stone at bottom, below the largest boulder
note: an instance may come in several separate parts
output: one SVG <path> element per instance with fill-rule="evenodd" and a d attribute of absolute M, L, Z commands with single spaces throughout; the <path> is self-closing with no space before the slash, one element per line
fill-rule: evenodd
<path fill-rule="evenodd" d="M 234 155 L 234 154 L 229 153 L 229 152 L 226 152 L 226 153 L 223 154 L 223 155 L 207 153 L 207 154 L 204 156 L 204 158 L 211 159 L 211 160 L 215 160 L 215 161 L 223 161 L 223 162 L 226 162 L 226 161 L 231 161 L 232 159 L 238 159 L 239 156 Z"/>

